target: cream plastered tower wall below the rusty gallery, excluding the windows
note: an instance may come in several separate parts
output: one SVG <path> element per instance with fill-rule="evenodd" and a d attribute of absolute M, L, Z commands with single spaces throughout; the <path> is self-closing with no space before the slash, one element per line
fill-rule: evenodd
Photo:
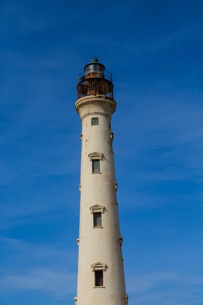
<path fill-rule="evenodd" d="M 111 115 L 116 102 L 106 97 L 85 97 L 76 102 L 82 119 L 81 201 L 77 305 L 124 305 L 125 281 L 118 205 L 115 190 L 114 153 L 111 140 Z M 98 117 L 99 125 L 91 126 Z M 91 153 L 101 153 L 100 173 L 92 173 Z M 102 228 L 93 228 L 90 207 L 104 206 Z M 107 265 L 104 287 L 94 287 L 94 263 Z"/>

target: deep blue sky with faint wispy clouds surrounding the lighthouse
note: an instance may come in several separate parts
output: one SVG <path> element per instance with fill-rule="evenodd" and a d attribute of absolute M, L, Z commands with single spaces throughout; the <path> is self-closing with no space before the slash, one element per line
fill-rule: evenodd
<path fill-rule="evenodd" d="M 201 1 L 0 4 L 0 303 L 74 304 L 81 121 L 96 52 L 112 119 L 129 305 L 203 304 Z"/>

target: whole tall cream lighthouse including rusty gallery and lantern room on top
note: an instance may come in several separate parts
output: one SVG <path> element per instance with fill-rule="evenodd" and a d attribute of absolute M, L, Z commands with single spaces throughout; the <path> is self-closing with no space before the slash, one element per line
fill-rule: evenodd
<path fill-rule="evenodd" d="M 112 75 L 92 58 L 78 76 L 82 120 L 80 227 L 76 305 L 126 305 L 128 296 L 116 198 L 111 117 Z"/>

